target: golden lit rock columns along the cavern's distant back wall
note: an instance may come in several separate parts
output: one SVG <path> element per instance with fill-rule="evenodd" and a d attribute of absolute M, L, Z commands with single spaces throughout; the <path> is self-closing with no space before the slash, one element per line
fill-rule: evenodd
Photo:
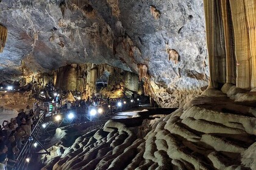
<path fill-rule="evenodd" d="M 138 75 L 132 72 L 112 67 L 107 64 L 70 64 L 55 71 L 55 87 L 62 90 L 82 92 L 82 98 L 87 99 L 96 94 L 96 81 L 104 72 L 108 72 L 107 87 L 98 92 L 104 97 L 124 95 L 126 90 L 138 92 Z M 117 97 L 117 96 L 116 96 Z"/>

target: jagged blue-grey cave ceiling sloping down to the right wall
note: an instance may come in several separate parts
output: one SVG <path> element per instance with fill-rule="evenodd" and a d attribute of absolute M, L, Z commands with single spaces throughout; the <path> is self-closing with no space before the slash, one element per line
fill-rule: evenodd
<path fill-rule="evenodd" d="M 177 107 L 208 84 L 204 23 L 202 0 L 3 0 L 2 80 L 22 75 L 21 66 L 49 72 L 71 63 L 107 63 L 138 73 L 137 64 L 145 64 L 151 95 L 160 106 Z"/>

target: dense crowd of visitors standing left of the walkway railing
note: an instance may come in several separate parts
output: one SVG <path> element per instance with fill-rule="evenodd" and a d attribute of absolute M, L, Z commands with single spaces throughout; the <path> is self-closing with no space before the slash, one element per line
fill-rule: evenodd
<path fill-rule="evenodd" d="M 15 167 L 16 158 L 31 135 L 40 110 L 38 104 L 35 110 L 27 106 L 26 110 L 21 109 L 17 117 L 10 121 L 4 120 L 2 126 L 0 125 L 0 170 Z"/>

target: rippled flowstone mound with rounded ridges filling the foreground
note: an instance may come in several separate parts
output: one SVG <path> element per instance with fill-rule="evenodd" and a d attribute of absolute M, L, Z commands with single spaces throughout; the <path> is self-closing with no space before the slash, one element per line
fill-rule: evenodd
<path fill-rule="evenodd" d="M 54 146 L 43 169 L 255 169 L 255 127 L 255 107 L 206 90 L 155 123 L 110 120 L 69 146 Z"/>

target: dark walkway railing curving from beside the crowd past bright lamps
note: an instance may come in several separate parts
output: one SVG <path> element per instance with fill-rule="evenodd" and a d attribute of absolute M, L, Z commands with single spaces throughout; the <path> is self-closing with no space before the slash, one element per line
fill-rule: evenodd
<path fill-rule="evenodd" d="M 108 118 L 108 115 L 111 115 L 115 112 L 119 112 L 122 109 L 128 109 L 130 107 L 135 106 L 134 101 L 123 101 L 123 100 L 118 100 L 118 99 L 113 100 L 113 101 L 116 101 L 116 103 L 112 102 L 109 104 L 106 103 L 106 104 L 102 104 L 102 105 L 98 105 L 98 106 L 90 105 L 87 107 L 73 107 L 73 109 L 71 109 L 71 110 L 61 109 L 61 110 L 57 110 L 57 111 L 60 111 L 60 112 L 57 112 L 57 114 L 65 115 L 65 114 L 72 112 L 72 110 L 76 110 L 76 115 L 80 115 L 80 116 L 83 115 L 90 121 L 92 121 L 93 119 L 99 120 L 101 118 L 103 120 L 104 118 Z M 120 103 L 121 103 L 121 105 L 120 105 Z M 95 115 L 90 114 L 91 109 L 99 109 L 99 108 L 103 109 L 102 113 L 100 113 L 99 110 L 96 110 L 96 112 L 98 112 L 97 114 L 95 114 Z M 57 114 L 55 114 L 55 115 L 57 115 Z M 45 127 L 43 127 L 43 124 L 46 121 L 47 117 L 48 118 L 50 117 L 51 121 L 54 121 L 53 120 L 54 114 L 52 114 L 52 112 L 44 112 L 40 116 L 40 118 L 37 121 L 37 124 L 35 125 L 35 127 L 32 131 L 32 134 L 30 135 L 30 137 L 26 141 L 26 144 L 24 144 L 23 149 L 21 150 L 20 154 L 18 155 L 18 158 L 17 158 L 18 163 L 16 163 L 15 170 L 27 169 L 27 166 L 29 165 L 30 157 L 32 156 L 32 154 L 35 153 L 35 147 L 33 147 L 33 146 L 38 141 L 37 138 L 40 138 L 39 132 L 46 131 Z M 62 118 L 62 119 L 65 119 L 65 118 Z M 39 144 L 41 146 L 41 148 L 43 148 L 46 151 L 41 154 L 49 154 L 49 152 L 44 148 L 44 146 L 39 141 L 37 142 L 37 144 Z"/>

